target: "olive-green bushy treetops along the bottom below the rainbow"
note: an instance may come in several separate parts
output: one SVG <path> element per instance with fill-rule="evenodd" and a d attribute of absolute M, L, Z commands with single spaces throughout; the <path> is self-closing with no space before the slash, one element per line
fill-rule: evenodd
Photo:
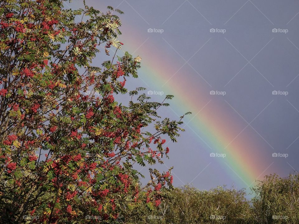
<path fill-rule="evenodd" d="M 145 206 L 139 207 L 127 223 L 299 223 L 299 175 L 269 175 L 252 190 L 250 198 L 244 189 L 218 187 L 201 191 L 186 185 L 175 188 L 158 208 L 149 211 Z"/>

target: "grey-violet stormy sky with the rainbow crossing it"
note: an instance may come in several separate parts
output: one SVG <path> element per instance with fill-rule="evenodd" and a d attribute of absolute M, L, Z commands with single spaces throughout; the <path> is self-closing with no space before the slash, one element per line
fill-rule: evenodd
<path fill-rule="evenodd" d="M 265 175 L 298 170 L 298 1 L 86 4 L 124 12 L 122 49 L 142 58 L 139 78 L 126 87 L 143 86 L 155 101 L 174 95 L 161 116 L 192 112 L 178 143 L 165 143 L 170 159 L 158 166 L 174 167 L 175 186 L 225 184 L 248 192 Z M 82 1 L 68 5 L 75 9 Z"/>

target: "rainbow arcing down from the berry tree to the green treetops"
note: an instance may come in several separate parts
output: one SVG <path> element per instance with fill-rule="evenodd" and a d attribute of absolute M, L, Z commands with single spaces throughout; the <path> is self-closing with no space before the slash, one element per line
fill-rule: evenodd
<path fill-rule="evenodd" d="M 131 34 L 136 32 L 136 30 L 130 29 L 131 27 L 126 27 L 125 30 Z M 125 43 L 123 49 L 130 53 L 132 49 L 138 48 L 147 39 L 147 37 L 134 39 L 132 36 L 122 35 L 120 37 Z M 192 78 L 182 74 L 182 69 L 177 72 L 177 69 L 171 66 L 174 63 L 171 61 L 171 57 L 161 58 L 148 44 L 152 44 L 150 40 L 138 49 L 142 58 L 139 76 L 150 84 L 151 88 L 154 86 L 156 91 L 164 91 L 165 94 L 174 95 L 175 98 L 170 103 L 171 106 L 176 107 L 176 111 L 180 111 L 181 114 L 191 111 L 192 115 L 188 117 L 193 119 L 188 125 L 205 145 L 202 147 L 208 148 L 210 153 L 225 153 L 224 158 L 216 158 L 223 169 L 226 169 L 232 179 L 240 183 L 241 186 L 245 186 L 245 188 L 253 186 L 255 180 L 263 178 L 268 168 L 264 161 L 265 155 L 262 153 L 261 146 L 254 143 L 257 134 L 251 135 L 246 132 L 245 135 L 244 131 L 238 135 L 247 125 L 245 122 L 239 124 L 240 120 L 237 121 L 237 117 L 235 117 L 238 114 L 233 109 L 231 111 L 223 109 L 225 106 L 227 108 L 228 105 L 220 98 L 212 99 L 205 107 L 209 101 L 207 100 L 207 93 L 210 91 L 207 89 L 205 81 L 199 80 L 199 78 L 192 80 Z M 174 54 L 176 53 L 174 52 Z M 169 55 L 169 53 L 165 53 L 165 55 Z M 185 86 L 188 88 L 186 89 Z M 199 110 L 201 111 L 197 114 Z M 235 113 L 234 117 L 232 117 L 232 113 Z"/>

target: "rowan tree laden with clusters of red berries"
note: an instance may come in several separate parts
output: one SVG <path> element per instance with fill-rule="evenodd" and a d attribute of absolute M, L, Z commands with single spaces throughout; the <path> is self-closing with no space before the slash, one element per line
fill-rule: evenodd
<path fill-rule="evenodd" d="M 122 12 L 63 0 L 0 5 L 1 222 L 117 223 L 139 204 L 159 206 L 170 170 L 151 168 L 142 186 L 133 165 L 162 163 L 183 117 L 163 119 L 168 103 L 125 88 L 141 58 L 121 51 Z M 107 60 L 93 66 L 97 54 Z"/>

